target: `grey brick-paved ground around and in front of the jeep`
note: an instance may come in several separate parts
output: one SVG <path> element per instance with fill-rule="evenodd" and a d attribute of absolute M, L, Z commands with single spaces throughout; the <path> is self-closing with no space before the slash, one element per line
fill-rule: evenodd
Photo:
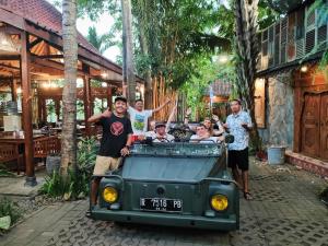
<path fill-rule="evenodd" d="M 237 232 L 92 221 L 84 216 L 87 201 L 77 201 L 44 208 L 0 237 L 0 246 L 328 246 L 328 209 L 316 195 L 327 181 L 291 165 L 268 166 L 251 161 L 250 172 L 254 200 L 241 198 Z"/>

